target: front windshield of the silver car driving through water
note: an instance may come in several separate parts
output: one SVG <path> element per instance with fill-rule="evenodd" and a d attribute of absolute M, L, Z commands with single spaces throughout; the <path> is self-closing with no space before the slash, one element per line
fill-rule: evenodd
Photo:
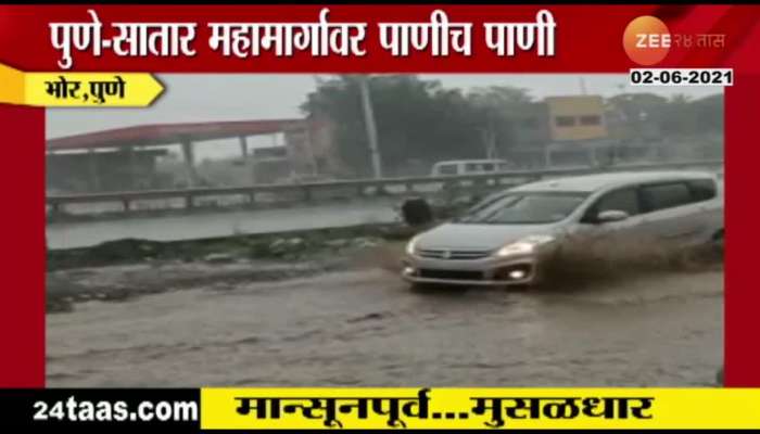
<path fill-rule="evenodd" d="M 588 196 L 579 192 L 512 192 L 486 199 L 455 220 L 459 224 L 539 225 L 559 221 Z"/>

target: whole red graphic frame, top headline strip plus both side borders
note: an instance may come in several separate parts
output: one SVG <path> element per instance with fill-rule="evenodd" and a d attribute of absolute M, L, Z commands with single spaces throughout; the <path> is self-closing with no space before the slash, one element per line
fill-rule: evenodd
<path fill-rule="evenodd" d="M 751 140 L 758 119 L 750 107 L 760 97 L 760 8 L 755 5 L 3 5 L 0 63 L 22 72 L 625 73 L 642 66 L 631 47 L 626 51 L 623 37 L 642 16 L 658 18 L 664 28 L 656 28 L 656 34 L 670 36 L 646 38 L 657 40 L 657 47 L 633 47 L 633 52 L 653 49 L 663 54 L 645 66 L 735 71 L 735 85 L 726 88 L 727 194 L 751 197 L 749 189 L 756 181 L 751 176 L 760 157 Z M 145 51 L 132 50 L 125 40 L 139 39 L 143 25 L 166 31 L 176 44 L 151 49 L 148 38 L 142 44 Z M 304 36 L 288 39 L 292 53 L 280 48 L 278 54 L 277 33 L 304 26 L 350 30 L 344 33 L 346 40 L 329 41 L 324 55 Z M 422 40 L 414 31 L 419 26 L 445 28 L 447 37 Z M 259 38 L 264 36 L 258 53 L 233 37 L 243 35 L 240 39 L 245 40 L 254 27 Z M 178 34 L 173 37 L 174 31 Z M 694 42 L 700 38 L 720 43 Z M 3 215 L 2 224 L 15 229 L 7 243 L 18 246 L 0 260 L 4 286 L 14 289 L 0 299 L 2 341 L 14 354 L 3 358 L 0 384 L 40 386 L 45 382 L 45 111 L 0 105 L 0 125 L 9 143 L 24 144 L 0 170 L 0 186 L 17 209 Z M 755 252 L 749 251 L 760 234 L 742 230 L 756 225 L 752 207 L 760 205 L 746 201 L 742 213 L 732 206 L 729 226 L 743 238 L 730 241 L 726 251 L 725 382 L 760 386 L 760 349 L 753 332 L 760 293 L 752 283 Z"/>

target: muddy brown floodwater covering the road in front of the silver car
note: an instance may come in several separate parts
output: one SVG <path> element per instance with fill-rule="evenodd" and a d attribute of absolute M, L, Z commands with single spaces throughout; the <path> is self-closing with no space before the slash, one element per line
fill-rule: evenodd
<path fill-rule="evenodd" d="M 413 292 L 389 270 L 87 302 L 48 316 L 49 386 L 705 386 L 723 272 Z"/>

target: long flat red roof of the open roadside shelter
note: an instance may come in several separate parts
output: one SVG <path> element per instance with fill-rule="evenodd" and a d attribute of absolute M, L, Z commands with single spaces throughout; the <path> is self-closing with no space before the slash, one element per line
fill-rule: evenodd
<path fill-rule="evenodd" d="M 202 141 L 270 135 L 291 128 L 304 128 L 306 123 L 306 119 L 267 119 L 140 125 L 50 139 L 47 142 L 47 149 L 64 151 L 175 144 L 187 140 Z"/>

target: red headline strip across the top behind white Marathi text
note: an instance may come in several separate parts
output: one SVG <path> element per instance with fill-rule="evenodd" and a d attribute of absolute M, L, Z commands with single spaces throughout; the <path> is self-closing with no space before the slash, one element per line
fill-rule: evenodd
<path fill-rule="evenodd" d="M 623 30 L 644 15 L 672 36 L 658 67 L 755 63 L 758 9 L 724 5 L 0 7 L 0 59 L 27 72 L 624 72 L 636 63 Z M 132 51 L 142 30 L 130 26 L 156 23 L 176 25 L 174 47 Z M 308 28 L 319 24 L 341 30 L 327 50 Z M 724 41 L 685 43 L 702 35 Z"/>

